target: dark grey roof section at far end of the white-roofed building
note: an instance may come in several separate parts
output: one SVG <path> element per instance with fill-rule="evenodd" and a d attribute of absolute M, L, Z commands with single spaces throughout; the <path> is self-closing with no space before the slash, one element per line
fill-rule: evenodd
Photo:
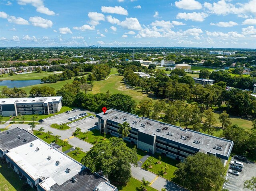
<path fill-rule="evenodd" d="M 24 138 L 26 138 L 26 142 L 24 141 Z M 30 143 L 36 139 L 37 138 L 35 136 L 24 129 L 14 128 L 6 130 L 0 132 L 0 149 L 2 151 L 10 150 L 18 146 Z"/>

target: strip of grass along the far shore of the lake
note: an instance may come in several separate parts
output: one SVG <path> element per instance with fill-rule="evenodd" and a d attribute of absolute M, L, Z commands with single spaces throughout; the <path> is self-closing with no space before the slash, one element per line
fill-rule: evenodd
<path fill-rule="evenodd" d="M 3 77 L 0 78 L 1 80 L 40 80 L 43 77 L 47 77 L 50 75 L 58 74 L 56 72 L 41 72 L 41 73 L 28 73 L 28 74 L 17 74 L 13 76 L 8 76 L 8 74 L 3 74 Z"/>

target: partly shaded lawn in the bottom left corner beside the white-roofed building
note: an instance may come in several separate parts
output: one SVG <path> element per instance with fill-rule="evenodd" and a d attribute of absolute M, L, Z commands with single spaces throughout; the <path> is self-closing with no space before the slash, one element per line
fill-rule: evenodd
<path fill-rule="evenodd" d="M 0 163 L 0 191 L 22 191 L 22 185 L 26 184 L 26 181 L 20 180 L 19 175 L 15 173 L 12 168 L 8 168 L 10 163 Z M 29 189 L 28 191 L 34 191 Z"/>

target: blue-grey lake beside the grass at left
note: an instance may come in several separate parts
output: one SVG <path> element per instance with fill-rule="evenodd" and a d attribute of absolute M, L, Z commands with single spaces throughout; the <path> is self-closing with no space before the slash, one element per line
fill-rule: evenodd
<path fill-rule="evenodd" d="M 0 86 L 7 86 L 8 88 L 21 88 L 40 84 L 41 80 L 3 80 L 0 81 Z"/>

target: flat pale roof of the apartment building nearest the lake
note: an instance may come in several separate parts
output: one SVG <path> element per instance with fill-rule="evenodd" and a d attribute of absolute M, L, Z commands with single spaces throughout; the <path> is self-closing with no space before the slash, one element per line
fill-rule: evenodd
<path fill-rule="evenodd" d="M 26 98 L 0 98 L 0 104 L 14 104 L 14 103 L 45 103 L 45 102 L 59 102 L 62 96 L 53 97 L 26 97 Z"/>

